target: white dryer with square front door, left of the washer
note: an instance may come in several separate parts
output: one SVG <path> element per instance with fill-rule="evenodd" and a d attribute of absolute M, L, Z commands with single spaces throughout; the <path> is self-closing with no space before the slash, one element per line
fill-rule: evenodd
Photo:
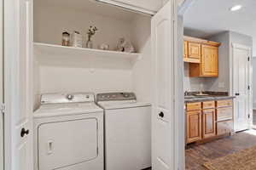
<path fill-rule="evenodd" d="M 34 115 L 35 170 L 103 170 L 103 110 L 94 94 L 43 94 Z"/>

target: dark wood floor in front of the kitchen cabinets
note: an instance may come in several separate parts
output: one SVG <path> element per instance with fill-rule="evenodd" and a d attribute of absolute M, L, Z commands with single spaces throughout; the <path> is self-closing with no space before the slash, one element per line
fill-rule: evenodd
<path fill-rule="evenodd" d="M 232 137 L 207 144 L 189 145 L 189 149 L 186 150 L 186 170 L 207 170 L 202 166 L 205 162 L 255 146 L 256 130 L 249 132 L 236 133 Z"/>

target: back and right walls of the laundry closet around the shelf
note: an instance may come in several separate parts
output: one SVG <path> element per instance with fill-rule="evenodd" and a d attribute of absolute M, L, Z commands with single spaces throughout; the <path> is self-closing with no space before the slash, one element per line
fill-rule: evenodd
<path fill-rule="evenodd" d="M 96 59 L 90 56 L 74 58 L 43 55 L 35 51 L 35 109 L 38 107 L 40 94 L 57 92 L 134 91 L 137 99 L 151 101 L 150 76 L 148 77 L 151 70 L 150 17 L 136 14 L 135 20 L 131 20 L 131 17 L 120 20 L 72 8 L 41 5 L 40 8 L 36 7 L 34 13 L 35 42 L 61 44 L 62 31 L 76 30 L 85 35 L 91 25 L 99 29 L 93 37 L 96 46 L 105 42 L 113 49 L 119 37 L 125 37 L 142 53 L 141 60 L 130 63 L 125 59 Z"/>

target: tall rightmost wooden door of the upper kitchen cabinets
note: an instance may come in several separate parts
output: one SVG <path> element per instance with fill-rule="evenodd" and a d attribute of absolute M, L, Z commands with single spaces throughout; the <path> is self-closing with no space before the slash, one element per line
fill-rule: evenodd
<path fill-rule="evenodd" d="M 202 45 L 201 76 L 218 77 L 218 47 Z"/>

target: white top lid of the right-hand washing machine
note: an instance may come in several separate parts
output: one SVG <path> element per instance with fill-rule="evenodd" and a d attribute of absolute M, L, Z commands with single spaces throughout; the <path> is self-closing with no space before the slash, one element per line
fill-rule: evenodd
<path fill-rule="evenodd" d="M 100 105 L 105 110 L 151 106 L 151 104 L 148 102 L 137 102 L 136 100 L 102 101 L 102 102 L 98 102 L 98 105 Z"/>

